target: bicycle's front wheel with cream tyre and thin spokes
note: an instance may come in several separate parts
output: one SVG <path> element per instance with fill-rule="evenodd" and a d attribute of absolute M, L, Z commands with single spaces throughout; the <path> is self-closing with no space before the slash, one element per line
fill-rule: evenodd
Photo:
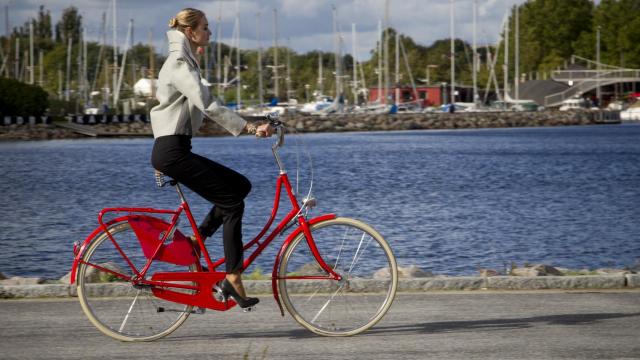
<path fill-rule="evenodd" d="M 359 334 L 387 313 L 398 286 L 389 244 L 369 225 L 336 218 L 311 226 L 320 255 L 342 280 L 328 279 L 303 233 L 284 252 L 278 282 L 287 311 L 324 336 Z"/>

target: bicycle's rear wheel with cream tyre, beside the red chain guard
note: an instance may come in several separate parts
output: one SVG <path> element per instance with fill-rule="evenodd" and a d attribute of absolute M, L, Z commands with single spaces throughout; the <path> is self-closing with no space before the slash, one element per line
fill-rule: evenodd
<path fill-rule="evenodd" d="M 109 232 L 126 258 L 141 271 L 147 259 L 129 223 L 126 220 L 115 223 L 109 226 Z M 155 261 L 147 278 L 157 271 L 196 271 L 196 267 Z M 130 281 L 133 275 L 131 266 L 106 232 L 91 241 L 76 276 L 80 305 L 91 323 L 121 341 L 156 340 L 182 325 L 192 306 L 159 299 L 150 286 L 134 286 Z"/>

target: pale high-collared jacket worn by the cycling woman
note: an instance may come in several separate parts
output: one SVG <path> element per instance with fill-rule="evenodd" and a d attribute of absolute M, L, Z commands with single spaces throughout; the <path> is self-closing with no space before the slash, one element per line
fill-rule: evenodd
<path fill-rule="evenodd" d="M 189 40 L 177 30 L 167 31 L 169 56 L 160 69 L 156 98 L 151 109 L 153 137 L 193 135 L 202 125 L 203 113 L 234 136 L 247 122 L 224 106 L 212 101 L 209 89 L 201 83 L 200 67 Z"/>

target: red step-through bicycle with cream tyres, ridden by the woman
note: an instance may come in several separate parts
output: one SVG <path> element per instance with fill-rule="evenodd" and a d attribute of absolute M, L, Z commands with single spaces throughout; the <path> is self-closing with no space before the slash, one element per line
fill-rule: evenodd
<path fill-rule="evenodd" d="M 391 306 L 398 284 L 395 257 L 386 240 L 361 221 L 335 214 L 307 218 L 315 199 L 296 198 L 278 154 L 284 127 L 277 119 L 270 121 L 277 131 L 272 151 L 280 170 L 274 205 L 266 225 L 244 246 L 245 252 L 253 249 L 245 256 L 244 268 L 277 236 L 288 233 L 271 274 L 282 316 L 281 300 L 293 318 L 314 333 L 359 334 Z M 160 187 L 167 183 L 162 176 L 156 180 Z M 175 331 L 192 313 L 226 311 L 236 305 L 215 296 L 215 284 L 225 277 L 216 269 L 225 259 L 210 257 L 180 185 L 169 183 L 181 201 L 177 209 L 103 209 L 99 226 L 74 245 L 71 284 L 76 284 L 89 320 L 112 338 L 156 340 Z M 283 187 L 291 211 L 266 235 L 276 219 Z M 105 220 L 106 214 L 114 218 Z M 182 215 L 200 251 L 178 230 Z"/>

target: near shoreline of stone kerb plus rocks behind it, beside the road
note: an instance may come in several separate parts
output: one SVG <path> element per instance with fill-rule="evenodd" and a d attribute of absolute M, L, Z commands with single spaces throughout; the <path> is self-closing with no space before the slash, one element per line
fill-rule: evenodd
<path fill-rule="evenodd" d="M 381 269 L 369 279 L 352 280 L 357 292 L 372 292 L 381 288 L 388 279 L 388 270 Z M 640 290 L 640 274 L 633 269 L 598 269 L 575 271 L 538 264 L 513 268 L 508 275 L 482 269 L 476 276 L 434 275 L 417 266 L 398 267 L 399 292 L 433 291 L 532 291 L 532 290 Z M 68 273 L 58 280 L 13 277 L 0 274 L 0 300 L 48 297 L 76 297 L 75 284 L 70 284 Z M 115 297 L 127 294 L 131 286 L 126 282 L 91 281 L 91 289 L 100 296 Z M 271 276 L 254 270 L 243 279 L 247 292 L 271 294 Z M 295 285 L 299 291 L 317 291 L 316 286 L 304 282 Z"/>

